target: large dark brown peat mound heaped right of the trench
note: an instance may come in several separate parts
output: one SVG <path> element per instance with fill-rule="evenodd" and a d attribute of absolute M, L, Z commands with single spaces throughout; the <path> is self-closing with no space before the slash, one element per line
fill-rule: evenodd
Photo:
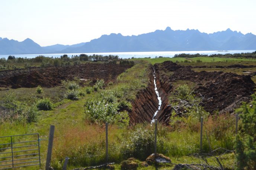
<path fill-rule="evenodd" d="M 241 101 L 248 101 L 255 83 L 249 75 L 223 72 L 196 72 L 189 68 L 175 71 L 169 81 L 189 80 L 196 83 L 195 94 L 203 96 L 202 106 L 212 113 L 215 110 L 231 112 Z M 234 104 L 236 103 L 236 104 Z M 232 105 L 233 107 L 228 107 Z M 225 109 L 225 108 L 229 109 Z"/>

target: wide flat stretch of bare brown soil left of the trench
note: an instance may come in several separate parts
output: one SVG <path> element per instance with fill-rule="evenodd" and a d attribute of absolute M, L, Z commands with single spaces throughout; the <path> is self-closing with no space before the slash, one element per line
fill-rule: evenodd
<path fill-rule="evenodd" d="M 54 87 L 60 85 L 62 80 L 73 80 L 74 77 L 92 81 L 104 79 L 108 82 L 115 80 L 129 67 L 119 64 L 87 63 L 77 66 L 4 70 L 0 71 L 0 87 Z"/>

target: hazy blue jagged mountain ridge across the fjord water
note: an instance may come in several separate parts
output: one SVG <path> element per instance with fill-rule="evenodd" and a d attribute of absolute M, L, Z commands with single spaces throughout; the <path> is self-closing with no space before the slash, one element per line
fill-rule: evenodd
<path fill-rule="evenodd" d="M 172 30 L 167 27 L 165 30 L 156 30 L 138 36 L 111 33 L 86 43 L 55 44 L 47 47 L 41 47 L 31 39 L 19 42 L 0 37 L 2 55 L 202 50 L 256 50 L 256 36 L 230 29 L 207 34 L 193 29 Z"/>

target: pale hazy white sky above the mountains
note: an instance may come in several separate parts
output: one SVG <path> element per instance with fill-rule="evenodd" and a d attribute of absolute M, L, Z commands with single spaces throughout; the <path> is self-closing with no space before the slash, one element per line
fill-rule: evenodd
<path fill-rule="evenodd" d="M 0 37 L 48 46 L 167 26 L 256 34 L 255 7 L 256 0 L 0 0 Z"/>

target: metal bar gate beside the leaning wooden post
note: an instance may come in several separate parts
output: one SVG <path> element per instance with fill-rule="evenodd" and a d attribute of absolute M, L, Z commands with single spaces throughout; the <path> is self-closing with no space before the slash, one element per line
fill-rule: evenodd
<path fill-rule="evenodd" d="M 0 137 L 0 170 L 41 166 L 39 134 Z"/>

